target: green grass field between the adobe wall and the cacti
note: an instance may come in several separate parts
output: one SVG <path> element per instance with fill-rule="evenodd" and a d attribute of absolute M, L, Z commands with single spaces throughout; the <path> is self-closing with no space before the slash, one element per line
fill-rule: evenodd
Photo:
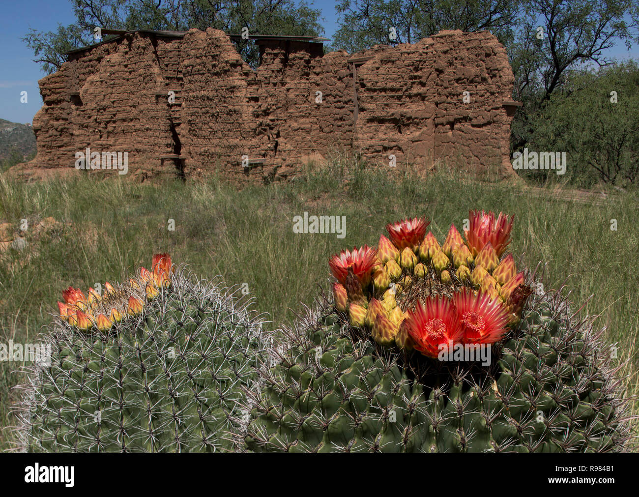
<path fill-rule="evenodd" d="M 241 191 L 206 183 L 134 184 L 91 178 L 17 183 L 0 178 L 0 224 L 15 229 L 27 219 L 27 245 L 0 252 L 0 342 L 35 340 L 56 312 L 61 290 L 118 281 L 153 252 L 167 251 L 202 277 L 222 275 L 248 285 L 256 309 L 272 325 L 294 319 L 318 284 L 328 287 L 328 257 L 353 245 L 376 245 L 387 222 L 426 215 L 442 240 L 450 223 L 460 229 L 468 210 L 515 215 L 513 254 L 520 266 L 545 265 L 546 289 L 566 282 L 585 315 L 599 314 L 618 361 L 629 360 L 627 383 L 635 390 L 639 332 L 639 211 L 636 193 L 606 201 L 562 199 L 550 190 L 519 184 L 487 185 L 453 172 L 420 178 L 386 176 L 352 163 L 335 162 L 286 184 Z M 346 237 L 295 234 L 293 217 L 346 216 Z M 169 220 L 174 231 L 169 231 Z M 611 220 L 617 230 L 612 231 Z M 8 246 L 7 246 L 8 247 Z M 592 296 L 592 297 L 591 297 Z M 589 298 L 590 297 L 590 298 Z M 10 424 L 10 388 L 19 364 L 0 363 L 0 425 Z M 6 448 L 8 434 L 0 434 Z"/>

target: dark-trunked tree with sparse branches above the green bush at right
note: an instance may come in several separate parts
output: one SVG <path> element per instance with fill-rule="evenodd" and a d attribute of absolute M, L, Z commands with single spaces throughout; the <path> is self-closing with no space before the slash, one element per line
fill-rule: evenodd
<path fill-rule="evenodd" d="M 634 0 L 527 0 L 521 29 L 510 47 L 514 97 L 523 102 L 511 134 L 511 148 L 521 149 L 532 136 L 532 116 L 566 75 L 582 65 L 605 67 L 604 56 L 617 43 L 639 42 L 639 4 Z"/>

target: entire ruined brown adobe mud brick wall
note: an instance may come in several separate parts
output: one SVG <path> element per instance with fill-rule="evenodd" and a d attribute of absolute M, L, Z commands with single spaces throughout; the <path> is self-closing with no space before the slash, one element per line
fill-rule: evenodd
<path fill-rule="evenodd" d="M 26 176 L 68 170 L 75 152 L 89 147 L 128 151 L 134 178 L 176 169 L 189 178 L 217 168 L 235 180 L 275 180 L 333 150 L 384 167 L 392 154 L 397 165 L 420 169 L 448 159 L 512 174 L 512 109 L 504 104 L 514 78 L 492 34 L 443 31 L 358 54 L 324 55 L 319 43 L 258 43 L 257 70 L 215 29 L 129 33 L 72 54 L 40 80 L 38 154 L 17 169 Z M 161 158 L 173 155 L 180 160 Z"/>

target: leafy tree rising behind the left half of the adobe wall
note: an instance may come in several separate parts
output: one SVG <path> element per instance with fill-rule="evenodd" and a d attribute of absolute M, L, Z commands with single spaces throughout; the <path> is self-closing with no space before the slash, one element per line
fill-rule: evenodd
<path fill-rule="evenodd" d="M 65 52 L 95 43 L 93 29 L 151 29 L 187 31 L 192 27 L 215 27 L 226 33 L 293 34 L 323 33 L 319 10 L 300 0 L 70 0 L 77 21 L 43 33 L 31 29 L 22 38 L 33 50 L 35 61 L 50 74 L 66 61 Z M 104 36 L 108 40 L 112 36 Z M 238 51 L 252 66 L 258 65 L 259 50 L 247 40 Z"/>

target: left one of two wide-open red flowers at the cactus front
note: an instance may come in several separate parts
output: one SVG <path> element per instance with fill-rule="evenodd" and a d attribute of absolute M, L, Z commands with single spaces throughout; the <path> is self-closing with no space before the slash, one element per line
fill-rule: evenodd
<path fill-rule="evenodd" d="M 402 326 L 413 348 L 425 356 L 435 358 L 440 345 L 448 347 L 450 340 L 459 343 L 463 337 L 463 328 L 450 300 L 428 297 L 424 305 L 418 301 L 415 310 L 408 310 L 407 314 Z"/>

